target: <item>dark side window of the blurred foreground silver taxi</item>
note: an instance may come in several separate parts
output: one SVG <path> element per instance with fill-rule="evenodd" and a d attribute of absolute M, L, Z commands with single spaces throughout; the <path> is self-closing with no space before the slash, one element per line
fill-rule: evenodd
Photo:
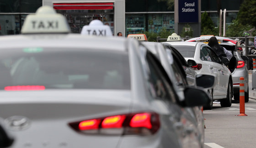
<path fill-rule="evenodd" d="M 165 101 L 176 102 L 171 81 L 159 61 L 150 52 L 146 54 L 146 61 L 149 67 L 149 89 L 152 96 Z"/>

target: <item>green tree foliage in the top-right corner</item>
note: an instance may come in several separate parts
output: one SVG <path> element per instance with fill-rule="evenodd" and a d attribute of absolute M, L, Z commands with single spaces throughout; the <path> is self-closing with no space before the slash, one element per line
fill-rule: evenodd
<path fill-rule="evenodd" d="M 237 20 L 242 25 L 256 27 L 256 0 L 244 0 L 237 14 Z"/>

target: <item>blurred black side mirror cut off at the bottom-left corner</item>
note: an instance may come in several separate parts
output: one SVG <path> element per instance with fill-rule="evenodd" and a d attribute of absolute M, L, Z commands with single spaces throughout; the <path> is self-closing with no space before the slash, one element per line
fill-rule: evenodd
<path fill-rule="evenodd" d="M 13 138 L 4 128 L 3 122 L 0 121 L 0 148 L 10 147 L 13 141 Z"/>

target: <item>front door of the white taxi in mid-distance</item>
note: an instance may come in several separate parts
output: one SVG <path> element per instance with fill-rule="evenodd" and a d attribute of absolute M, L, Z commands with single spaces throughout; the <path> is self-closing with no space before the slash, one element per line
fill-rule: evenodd
<path fill-rule="evenodd" d="M 219 72 L 219 94 L 226 96 L 229 84 L 229 69 L 222 64 L 219 56 L 210 47 L 206 46 L 206 49 L 211 56 L 214 68 Z"/>

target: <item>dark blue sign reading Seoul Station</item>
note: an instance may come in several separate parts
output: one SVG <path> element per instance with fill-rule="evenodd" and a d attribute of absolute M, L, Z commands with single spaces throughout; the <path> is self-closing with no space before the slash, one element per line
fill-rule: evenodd
<path fill-rule="evenodd" d="M 198 22 L 198 0 L 179 1 L 179 23 Z"/>

